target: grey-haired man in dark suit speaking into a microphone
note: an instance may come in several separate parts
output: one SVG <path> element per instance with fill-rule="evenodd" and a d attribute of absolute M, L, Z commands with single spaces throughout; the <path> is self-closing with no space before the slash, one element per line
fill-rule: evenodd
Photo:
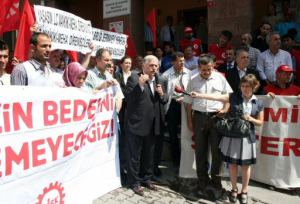
<path fill-rule="evenodd" d="M 164 104 L 167 102 L 161 79 L 157 75 L 158 68 L 158 59 L 147 55 L 143 72 L 131 73 L 125 87 L 128 184 L 140 196 L 144 195 L 141 185 L 157 190 L 150 181 L 153 174 L 153 151 L 155 135 L 160 134 Z"/>

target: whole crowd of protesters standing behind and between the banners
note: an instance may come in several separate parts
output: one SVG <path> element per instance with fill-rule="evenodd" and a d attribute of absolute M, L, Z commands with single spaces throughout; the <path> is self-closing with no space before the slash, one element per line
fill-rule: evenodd
<path fill-rule="evenodd" d="M 161 30 L 163 47 L 150 50 L 153 45 L 146 41 L 151 52 L 144 58 L 124 56 L 114 62 L 109 50 L 99 49 L 95 57 L 91 53 L 83 56 L 81 63 L 69 62 L 62 50 L 51 50 L 50 37 L 36 32 L 30 40 L 30 59 L 15 59 L 11 75 L 5 72 L 9 47 L 0 41 L 0 85 L 76 87 L 91 93 L 114 86 L 121 181 L 140 196 L 144 195 L 142 186 L 157 190 L 152 178 L 161 175 L 165 131 L 173 165 L 179 167 L 181 108 L 185 108 L 187 126 L 195 135 L 197 195 L 205 197 L 208 186 L 223 192 L 220 169 L 225 161 L 232 183 L 229 200 L 236 202 L 240 194 L 240 202 L 247 203 L 250 166 L 256 163 L 254 126 L 263 123 L 263 107 L 255 94 L 300 96 L 300 52 L 293 48 L 299 34 L 294 28 L 283 34 L 275 32 L 272 24 L 265 22 L 256 36 L 242 34 L 239 47 L 231 45 L 233 35 L 228 30 L 220 32 L 217 42 L 202 47 L 206 40 L 197 29 L 185 27 L 184 37 L 176 45 L 176 29 L 169 16 Z M 190 95 L 184 95 L 186 92 Z M 222 137 L 213 118 L 240 105 L 244 119 L 253 124 L 251 136 Z M 242 168 L 240 192 L 238 166 Z M 220 193 L 216 199 L 226 197 Z"/>

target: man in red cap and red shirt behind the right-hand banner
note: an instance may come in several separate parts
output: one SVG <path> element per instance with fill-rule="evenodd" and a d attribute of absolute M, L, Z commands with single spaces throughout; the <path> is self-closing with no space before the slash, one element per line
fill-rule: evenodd
<path fill-rule="evenodd" d="M 276 81 L 268 84 L 264 91 L 272 98 L 275 95 L 300 96 L 300 87 L 291 84 L 293 69 L 287 65 L 280 65 L 276 70 Z"/>

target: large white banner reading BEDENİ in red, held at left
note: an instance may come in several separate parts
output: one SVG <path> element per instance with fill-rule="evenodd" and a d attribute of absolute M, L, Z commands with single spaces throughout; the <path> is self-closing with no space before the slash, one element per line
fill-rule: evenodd
<path fill-rule="evenodd" d="M 92 203 L 120 187 L 111 89 L 0 92 L 0 203 Z"/>

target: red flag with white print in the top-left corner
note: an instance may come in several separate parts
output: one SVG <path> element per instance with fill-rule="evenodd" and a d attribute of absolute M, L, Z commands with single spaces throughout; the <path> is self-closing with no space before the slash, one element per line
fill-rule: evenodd
<path fill-rule="evenodd" d="M 0 35 L 17 30 L 20 24 L 19 0 L 1 0 Z"/>

